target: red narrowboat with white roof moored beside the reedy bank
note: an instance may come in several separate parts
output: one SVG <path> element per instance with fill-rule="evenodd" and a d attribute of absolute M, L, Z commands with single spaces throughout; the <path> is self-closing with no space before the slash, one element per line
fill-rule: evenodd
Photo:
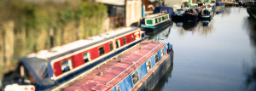
<path fill-rule="evenodd" d="M 140 28 L 126 27 L 28 54 L 20 60 L 18 69 L 13 73 L 15 76 L 9 76 L 15 78 L 3 79 L 3 85 L 13 84 L 6 86 L 6 89 L 32 87 L 33 90 L 49 90 L 66 85 L 143 39 L 145 33 Z"/>

